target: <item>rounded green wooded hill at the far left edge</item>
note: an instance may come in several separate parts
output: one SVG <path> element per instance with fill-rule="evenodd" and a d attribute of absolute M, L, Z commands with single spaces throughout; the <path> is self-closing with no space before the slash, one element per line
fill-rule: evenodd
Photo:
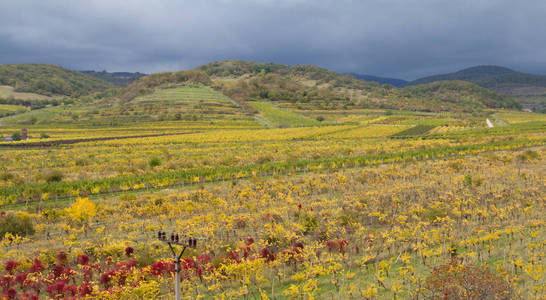
<path fill-rule="evenodd" d="M 48 64 L 0 65 L 0 85 L 14 87 L 15 92 L 69 97 L 80 97 L 115 87 L 93 76 Z"/>

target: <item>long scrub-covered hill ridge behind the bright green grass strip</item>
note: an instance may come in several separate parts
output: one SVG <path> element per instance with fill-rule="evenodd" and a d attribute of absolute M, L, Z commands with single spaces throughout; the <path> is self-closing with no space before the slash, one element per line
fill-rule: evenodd
<path fill-rule="evenodd" d="M 233 99 L 267 100 L 298 109 L 476 112 L 484 108 L 519 108 L 512 99 L 462 81 L 393 88 L 316 66 L 245 61 L 215 62 L 197 69 L 211 76 L 218 89 Z"/>

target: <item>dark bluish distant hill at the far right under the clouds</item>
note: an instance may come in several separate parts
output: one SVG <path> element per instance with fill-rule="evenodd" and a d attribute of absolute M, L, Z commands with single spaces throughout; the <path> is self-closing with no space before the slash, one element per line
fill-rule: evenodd
<path fill-rule="evenodd" d="M 418 85 L 443 80 L 472 82 L 496 93 L 517 99 L 524 107 L 546 108 L 546 76 L 517 72 L 499 66 L 476 66 L 454 73 L 428 76 L 408 83 Z"/>

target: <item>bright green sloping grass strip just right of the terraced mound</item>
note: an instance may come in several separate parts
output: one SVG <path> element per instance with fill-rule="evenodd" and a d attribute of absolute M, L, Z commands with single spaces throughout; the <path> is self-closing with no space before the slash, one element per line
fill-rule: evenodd
<path fill-rule="evenodd" d="M 249 102 L 249 104 L 256 108 L 268 121 L 269 125 L 273 127 L 305 127 L 320 125 L 320 122 L 317 120 L 278 108 L 269 102 Z"/>

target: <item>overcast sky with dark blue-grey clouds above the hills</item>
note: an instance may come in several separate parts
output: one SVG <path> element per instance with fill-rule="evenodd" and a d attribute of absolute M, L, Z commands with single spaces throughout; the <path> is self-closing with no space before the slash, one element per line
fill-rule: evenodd
<path fill-rule="evenodd" d="M 545 0 L 0 0 L 0 64 L 154 73 L 242 59 L 417 79 L 546 75 Z"/>

